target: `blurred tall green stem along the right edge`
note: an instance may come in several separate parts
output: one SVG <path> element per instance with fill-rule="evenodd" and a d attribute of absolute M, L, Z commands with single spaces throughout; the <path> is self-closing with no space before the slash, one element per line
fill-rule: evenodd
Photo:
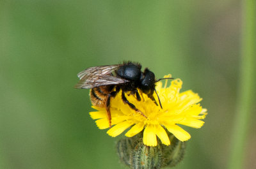
<path fill-rule="evenodd" d="M 229 169 L 244 168 L 248 129 L 255 102 L 255 64 L 256 64 L 256 1 L 243 1 L 242 27 L 242 59 L 237 95 L 236 116 L 232 135 L 231 154 L 228 161 Z"/>

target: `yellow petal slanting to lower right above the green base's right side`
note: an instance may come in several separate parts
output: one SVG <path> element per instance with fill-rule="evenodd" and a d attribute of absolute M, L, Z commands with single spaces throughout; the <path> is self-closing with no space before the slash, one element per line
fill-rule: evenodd
<path fill-rule="evenodd" d="M 168 131 L 170 131 L 170 133 L 172 133 L 176 138 L 178 138 L 182 142 L 191 138 L 189 133 L 184 129 L 180 128 L 180 126 L 170 125 L 166 126 L 166 128 L 168 129 Z"/>

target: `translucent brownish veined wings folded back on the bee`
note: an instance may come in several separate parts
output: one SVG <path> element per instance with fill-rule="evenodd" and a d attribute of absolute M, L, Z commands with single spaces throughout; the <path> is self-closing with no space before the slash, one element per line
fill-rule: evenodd
<path fill-rule="evenodd" d="M 78 84 L 75 88 L 77 89 L 89 89 L 93 87 L 98 87 L 100 85 L 115 85 L 124 84 L 129 82 L 124 78 L 118 78 L 112 75 L 112 72 L 121 66 L 121 64 L 109 65 L 109 66 L 95 66 L 81 71 L 77 74 L 80 78 Z"/>

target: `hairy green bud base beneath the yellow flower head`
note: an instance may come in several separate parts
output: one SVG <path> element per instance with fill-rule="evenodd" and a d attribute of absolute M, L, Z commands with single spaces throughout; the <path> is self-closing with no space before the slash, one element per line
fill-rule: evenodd
<path fill-rule="evenodd" d="M 132 169 L 160 169 L 177 165 L 184 157 L 185 142 L 170 134 L 171 144 L 158 143 L 156 147 L 143 144 L 143 135 L 122 138 L 117 142 L 120 160 Z M 159 141 L 159 140 L 158 140 Z"/>

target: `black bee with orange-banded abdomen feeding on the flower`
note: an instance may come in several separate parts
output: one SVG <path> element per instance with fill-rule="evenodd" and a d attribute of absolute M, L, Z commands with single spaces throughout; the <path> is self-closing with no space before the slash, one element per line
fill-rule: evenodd
<path fill-rule="evenodd" d="M 157 104 L 153 94 L 156 92 L 156 82 L 166 78 L 156 80 L 155 74 L 145 68 L 141 71 L 141 64 L 137 62 L 124 62 L 123 64 L 115 64 L 108 66 L 95 66 L 87 68 L 77 74 L 80 81 L 75 85 L 77 89 L 91 89 L 90 99 L 92 105 L 97 107 L 105 107 L 108 114 L 109 127 L 111 128 L 111 112 L 110 112 L 110 99 L 115 98 L 116 94 L 122 90 L 122 100 L 129 105 L 138 114 L 147 118 L 143 112 L 138 110 L 129 100 L 125 97 L 125 92 L 129 92 L 136 96 L 138 101 L 141 101 L 141 96 L 138 92 L 140 89 L 143 93 L 147 94 L 148 98 L 152 99 Z M 157 92 L 156 92 L 157 94 Z M 157 94 L 159 105 L 162 108 L 161 101 Z"/>

